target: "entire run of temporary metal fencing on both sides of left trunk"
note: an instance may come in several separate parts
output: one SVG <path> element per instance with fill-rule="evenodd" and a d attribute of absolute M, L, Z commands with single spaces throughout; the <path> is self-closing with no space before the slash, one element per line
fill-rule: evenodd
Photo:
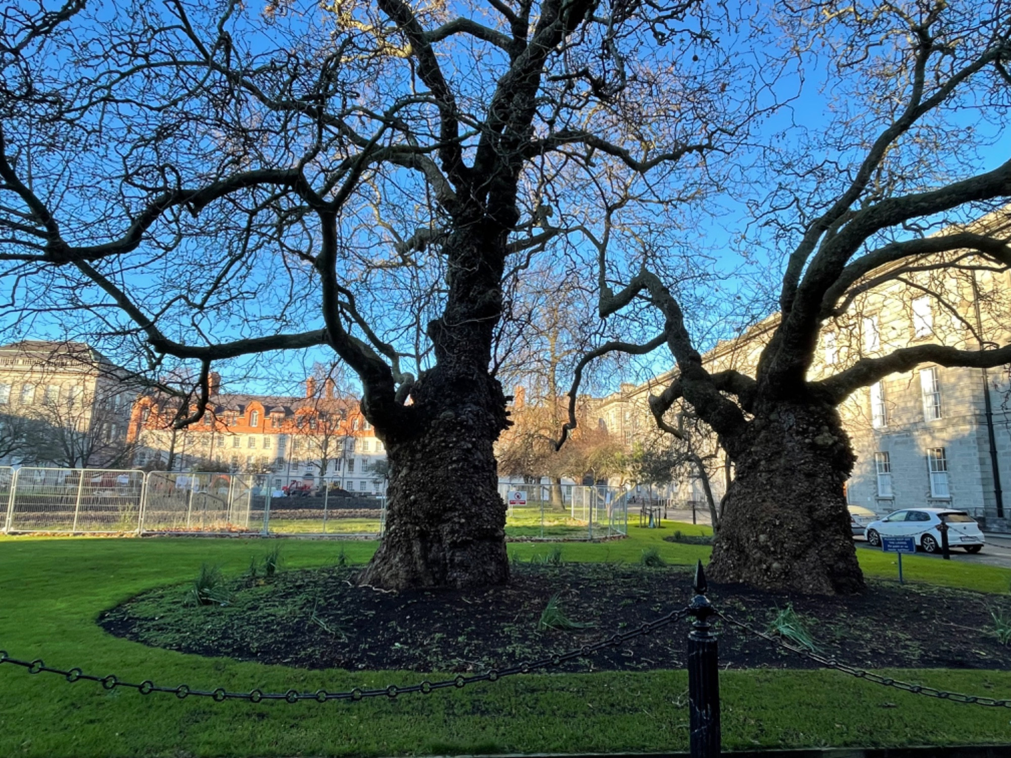
<path fill-rule="evenodd" d="M 340 478 L 272 488 L 271 475 L 0 467 L 6 534 L 383 534 L 386 497 L 344 489 Z M 500 485 L 512 539 L 599 540 L 628 534 L 619 487 Z"/>

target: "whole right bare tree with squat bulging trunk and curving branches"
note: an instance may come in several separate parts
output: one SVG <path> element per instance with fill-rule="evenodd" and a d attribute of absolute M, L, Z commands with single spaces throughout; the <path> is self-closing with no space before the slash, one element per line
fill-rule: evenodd
<path fill-rule="evenodd" d="M 854 456 L 840 403 L 923 364 L 1011 361 L 1002 331 L 1007 213 L 967 223 L 1011 197 L 1011 162 L 985 166 L 996 138 L 989 125 L 1007 123 L 1011 16 L 1003 2 L 942 0 L 803 2 L 784 14 L 785 32 L 823 67 L 836 100 L 827 123 L 763 154 L 766 186 L 775 189 L 754 206 L 757 236 L 748 244 L 784 256 L 777 312 L 748 337 L 760 348 L 756 365 L 704 365 L 652 253 L 618 286 L 602 254 L 600 309 L 609 316 L 645 298 L 662 314 L 662 342 L 677 370 L 651 398 L 656 420 L 680 434 L 663 414 L 686 401 L 735 465 L 713 576 L 855 592 L 864 584 L 843 496 Z M 957 313 L 959 301 L 974 301 L 966 282 L 973 271 L 990 276 L 990 336 L 977 340 L 979 326 L 957 318 L 946 338 L 877 334 L 866 309 L 876 291 L 898 287 L 890 295 L 898 302 L 926 296 L 933 312 Z M 833 344 L 832 360 L 819 361 L 830 334 L 850 347 Z"/>

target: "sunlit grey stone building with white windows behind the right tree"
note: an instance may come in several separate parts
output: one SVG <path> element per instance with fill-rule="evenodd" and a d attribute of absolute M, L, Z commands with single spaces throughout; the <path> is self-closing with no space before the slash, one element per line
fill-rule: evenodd
<path fill-rule="evenodd" d="M 970 228 L 1007 236 L 1011 220 L 1005 209 Z M 1011 272 L 981 265 L 968 253 L 949 259 L 943 263 L 954 267 L 937 267 L 942 261 L 934 257 L 863 283 L 848 310 L 823 326 L 811 378 L 918 344 L 979 350 L 1011 343 Z M 775 323 L 769 317 L 719 344 L 704 356 L 707 368 L 753 375 Z M 601 402 L 602 423 L 626 442 L 655 436 L 647 400 L 670 378 L 622 385 Z M 857 455 L 846 490 L 850 503 L 878 513 L 959 508 L 987 529 L 1011 532 L 1011 366 L 921 365 L 857 390 L 839 411 Z M 720 478 L 712 483 L 719 496 Z M 699 489 L 697 482 L 680 482 L 676 496 L 693 498 Z"/>

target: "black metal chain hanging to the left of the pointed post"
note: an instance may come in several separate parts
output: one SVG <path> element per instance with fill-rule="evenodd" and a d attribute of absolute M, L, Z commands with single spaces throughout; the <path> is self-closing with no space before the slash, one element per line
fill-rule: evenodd
<path fill-rule="evenodd" d="M 585 658 L 593 653 L 604 650 L 605 648 L 620 647 L 629 640 L 634 640 L 637 637 L 648 635 L 650 632 L 669 626 L 674 622 L 684 619 L 687 614 L 687 608 L 672 610 L 666 615 L 662 615 L 652 622 L 646 622 L 630 632 L 612 635 L 611 637 L 594 643 L 593 645 L 583 645 L 579 648 L 573 648 L 566 653 L 555 654 L 533 662 L 520 663 L 516 666 L 510 666 L 509 668 L 488 669 L 483 674 L 471 674 L 470 676 L 460 674 L 452 679 L 442 679 L 440 681 L 429 681 L 426 679 L 419 684 L 411 684 L 406 687 L 398 687 L 395 684 L 390 684 L 388 687 L 382 689 L 362 689 L 361 687 L 355 687 L 354 689 L 349 689 L 343 692 L 330 692 L 326 689 L 317 689 L 314 692 L 299 692 L 295 689 L 289 689 L 285 692 L 264 692 L 260 689 L 253 689 L 249 692 L 229 692 L 224 689 L 224 687 L 217 687 L 216 689 L 192 689 L 187 684 L 180 684 L 177 687 L 166 687 L 155 684 L 155 682 L 150 679 L 145 679 L 140 684 L 136 684 L 133 682 L 122 681 L 114 674 L 109 674 L 108 676 L 95 676 L 94 674 L 86 674 L 79 668 L 72 668 L 69 670 L 53 668 L 51 666 L 47 666 L 41 659 L 38 658 L 33 661 L 21 661 L 16 658 L 11 658 L 7 655 L 7 651 L 5 650 L 0 650 L 0 664 L 10 663 L 14 666 L 20 666 L 27 669 L 29 674 L 60 674 L 69 682 L 98 682 L 105 689 L 125 687 L 127 689 L 135 689 L 141 694 L 169 692 L 175 694 L 179 699 L 192 696 L 210 697 L 217 702 L 223 702 L 224 700 L 249 700 L 250 702 L 260 702 L 261 700 L 285 700 L 287 702 L 317 700 L 318 702 L 326 702 L 327 700 L 362 700 L 366 697 L 381 697 L 383 695 L 392 699 L 401 694 L 409 694 L 412 692 L 429 694 L 437 689 L 446 689 L 447 687 L 460 688 L 476 682 L 497 681 L 505 676 L 529 674 L 540 669 L 548 668 L 549 666 L 560 666 L 561 664 L 575 660 L 576 658 Z"/>

